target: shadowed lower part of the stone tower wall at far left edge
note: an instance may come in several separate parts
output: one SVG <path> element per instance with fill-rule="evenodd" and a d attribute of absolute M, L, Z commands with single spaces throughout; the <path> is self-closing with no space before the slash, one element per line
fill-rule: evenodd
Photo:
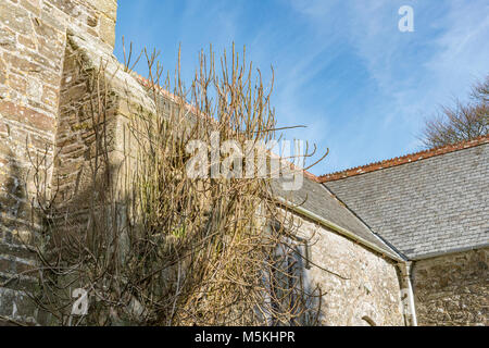
<path fill-rule="evenodd" d="M 2 146 L 8 137 L 0 135 Z M 28 171 L 21 167 L 10 149 L 0 159 L 0 325 L 35 324 L 36 306 L 29 298 L 39 271 L 33 251 L 34 226 L 38 217 L 26 188 Z"/>

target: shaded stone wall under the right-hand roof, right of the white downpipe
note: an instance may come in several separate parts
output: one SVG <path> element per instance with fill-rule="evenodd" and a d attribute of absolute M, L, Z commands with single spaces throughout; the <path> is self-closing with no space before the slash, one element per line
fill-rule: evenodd
<path fill-rule="evenodd" d="M 489 249 L 414 263 L 418 325 L 489 325 Z"/>

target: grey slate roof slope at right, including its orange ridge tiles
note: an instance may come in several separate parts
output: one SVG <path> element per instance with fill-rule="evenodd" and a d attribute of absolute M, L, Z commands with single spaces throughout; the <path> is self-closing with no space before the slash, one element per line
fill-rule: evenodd
<path fill-rule="evenodd" d="M 319 179 L 409 259 L 489 246 L 489 137 Z"/>

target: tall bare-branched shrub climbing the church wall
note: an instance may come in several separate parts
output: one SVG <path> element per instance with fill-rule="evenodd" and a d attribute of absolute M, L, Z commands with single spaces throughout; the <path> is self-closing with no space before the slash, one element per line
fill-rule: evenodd
<path fill-rule="evenodd" d="M 80 207 L 57 200 L 55 179 L 47 194 L 47 165 L 42 158 L 33 160 L 35 207 L 45 220 L 36 243 L 42 269 L 37 306 L 61 325 L 315 324 L 321 290 L 302 277 L 303 240 L 290 212 L 271 194 L 271 178 L 187 174 L 192 139 L 210 144 L 212 132 L 222 142 L 241 145 L 276 137 L 272 90 L 260 71 L 234 49 L 216 70 L 211 50 L 201 54 L 200 70 L 185 89 L 179 67 L 171 84 L 161 78 L 158 54 L 142 57 L 156 112 L 133 110 L 129 128 L 138 141 L 126 153 L 130 171 L 111 169 L 110 79 L 103 66 L 91 74 L 84 108 L 96 140 L 85 215 L 75 219 Z M 89 294 L 87 315 L 72 315 L 74 288 Z"/>

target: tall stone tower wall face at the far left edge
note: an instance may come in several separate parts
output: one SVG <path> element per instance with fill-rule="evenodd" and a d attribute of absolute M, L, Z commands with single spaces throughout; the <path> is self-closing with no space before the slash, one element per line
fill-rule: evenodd
<path fill-rule="evenodd" d="M 0 323 L 37 320 L 24 291 L 36 283 L 28 243 L 41 228 L 33 161 L 45 157 L 52 175 L 67 33 L 112 52 L 115 17 L 115 0 L 0 1 Z"/>

